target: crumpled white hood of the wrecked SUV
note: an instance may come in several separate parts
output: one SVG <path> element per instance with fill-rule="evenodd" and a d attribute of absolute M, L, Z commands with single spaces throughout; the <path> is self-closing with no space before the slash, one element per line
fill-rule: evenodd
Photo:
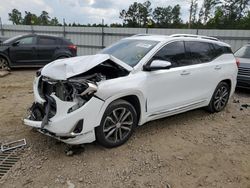
<path fill-rule="evenodd" d="M 104 61 L 107 61 L 108 59 L 123 67 L 127 71 L 133 70 L 131 66 L 115 58 L 114 56 L 109 54 L 96 54 L 67 59 L 58 59 L 45 65 L 41 74 L 54 80 L 67 80 L 72 76 L 87 72 Z"/>

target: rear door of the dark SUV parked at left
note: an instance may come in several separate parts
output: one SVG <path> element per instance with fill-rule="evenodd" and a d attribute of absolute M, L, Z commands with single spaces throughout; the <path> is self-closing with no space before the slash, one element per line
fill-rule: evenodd
<path fill-rule="evenodd" d="M 59 49 L 59 39 L 49 36 L 38 37 L 38 58 L 41 64 L 47 64 L 54 60 L 54 54 Z"/>

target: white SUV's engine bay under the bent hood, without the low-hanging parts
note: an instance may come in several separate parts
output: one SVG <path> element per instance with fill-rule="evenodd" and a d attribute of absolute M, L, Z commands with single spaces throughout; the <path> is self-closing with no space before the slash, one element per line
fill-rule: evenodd
<path fill-rule="evenodd" d="M 107 60 L 89 71 L 68 78 L 67 80 L 53 80 L 42 76 L 39 80 L 39 94 L 45 98 L 52 93 L 62 101 L 88 101 L 97 91 L 98 82 L 117 77 L 127 76 L 129 72 L 119 65 Z"/>

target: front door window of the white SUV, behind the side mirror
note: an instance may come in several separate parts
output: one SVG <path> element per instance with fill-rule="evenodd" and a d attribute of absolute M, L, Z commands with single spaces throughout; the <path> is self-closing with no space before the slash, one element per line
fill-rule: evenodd
<path fill-rule="evenodd" d="M 165 60 L 172 63 L 172 67 L 185 66 L 185 48 L 182 41 L 172 42 L 164 46 L 155 54 L 153 60 Z"/>

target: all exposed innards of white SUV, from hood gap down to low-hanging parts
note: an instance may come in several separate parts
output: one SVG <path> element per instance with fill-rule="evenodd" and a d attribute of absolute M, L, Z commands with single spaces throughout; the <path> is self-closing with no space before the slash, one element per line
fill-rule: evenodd
<path fill-rule="evenodd" d="M 56 114 L 56 102 L 51 97 L 52 94 L 61 101 L 74 102 L 75 105 L 68 110 L 68 113 L 71 113 L 93 97 L 99 82 L 127 76 L 128 74 L 129 71 L 111 60 L 106 60 L 87 72 L 70 77 L 67 80 L 54 80 L 37 73 L 40 76 L 38 93 L 46 102 L 44 105 L 38 103 L 32 105 L 30 119 L 36 121 L 43 120 L 45 121 L 43 124 L 45 124 L 49 118 Z"/>

